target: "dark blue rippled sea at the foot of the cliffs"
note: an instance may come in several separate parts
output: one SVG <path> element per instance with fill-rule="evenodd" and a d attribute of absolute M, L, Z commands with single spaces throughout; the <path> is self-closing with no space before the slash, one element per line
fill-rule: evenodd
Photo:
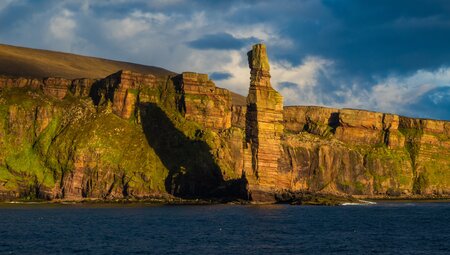
<path fill-rule="evenodd" d="M 0 204 L 0 254 L 450 254 L 450 203 Z"/>

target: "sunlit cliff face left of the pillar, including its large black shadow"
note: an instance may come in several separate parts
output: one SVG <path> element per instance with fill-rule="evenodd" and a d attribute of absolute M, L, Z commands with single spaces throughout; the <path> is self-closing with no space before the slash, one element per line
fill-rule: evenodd
<path fill-rule="evenodd" d="M 0 197 L 199 197 L 240 177 L 230 93 L 207 75 L 2 77 L 0 93 Z"/>

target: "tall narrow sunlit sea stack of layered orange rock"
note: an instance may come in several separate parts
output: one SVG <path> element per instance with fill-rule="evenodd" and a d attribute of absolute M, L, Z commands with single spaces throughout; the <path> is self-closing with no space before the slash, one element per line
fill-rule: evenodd
<path fill-rule="evenodd" d="M 286 186 L 280 179 L 278 163 L 282 155 L 283 97 L 270 84 L 266 46 L 256 44 L 247 55 L 251 78 L 247 97 L 244 171 L 251 199 L 270 201 L 278 190 Z"/>

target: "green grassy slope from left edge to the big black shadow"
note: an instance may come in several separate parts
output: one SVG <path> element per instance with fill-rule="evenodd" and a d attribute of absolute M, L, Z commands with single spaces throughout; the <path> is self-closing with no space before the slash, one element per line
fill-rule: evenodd
<path fill-rule="evenodd" d="M 108 195 L 101 191 L 111 185 L 112 192 L 121 193 L 123 181 L 130 195 L 164 191 L 167 169 L 139 126 L 108 111 L 97 112 L 89 99 L 70 95 L 60 101 L 39 91 L 17 89 L 0 92 L 0 98 L 0 193 L 43 197 L 36 187 L 39 192 L 59 187 L 62 175 L 72 172 L 76 161 L 91 169 L 91 192 L 96 192 L 92 196 Z M 32 114 L 37 107 L 51 113 L 39 133 L 35 133 L 39 121 Z"/>

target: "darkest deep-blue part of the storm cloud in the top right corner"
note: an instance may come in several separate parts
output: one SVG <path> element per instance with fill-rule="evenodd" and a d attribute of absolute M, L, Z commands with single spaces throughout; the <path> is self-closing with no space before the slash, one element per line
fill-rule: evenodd
<path fill-rule="evenodd" d="M 363 75 L 450 65 L 449 1 L 324 1 L 338 21 L 314 52 Z"/>

